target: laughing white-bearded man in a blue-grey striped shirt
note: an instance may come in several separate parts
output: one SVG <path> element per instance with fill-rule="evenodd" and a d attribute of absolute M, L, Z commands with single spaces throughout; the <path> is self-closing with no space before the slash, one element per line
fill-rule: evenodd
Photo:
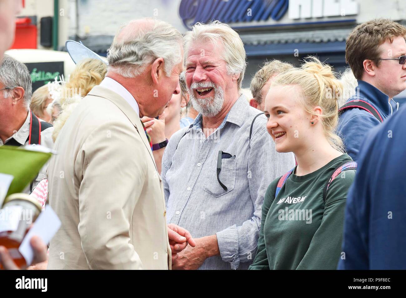
<path fill-rule="evenodd" d="M 186 85 L 199 115 L 171 137 L 162 180 L 168 222 L 197 239 L 173 269 L 248 269 L 265 191 L 294 167 L 294 156 L 275 151 L 266 117 L 240 94 L 246 68 L 240 36 L 214 21 L 195 24 L 184 40 Z"/>

